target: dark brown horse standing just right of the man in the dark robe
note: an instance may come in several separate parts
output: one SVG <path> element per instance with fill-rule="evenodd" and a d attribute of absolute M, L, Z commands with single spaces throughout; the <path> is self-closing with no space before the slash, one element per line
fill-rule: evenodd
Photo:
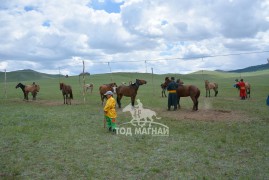
<path fill-rule="evenodd" d="M 170 83 L 169 78 L 165 78 L 165 83 L 168 85 Z M 200 96 L 200 90 L 195 85 L 183 85 L 183 82 L 178 80 L 178 88 L 177 88 L 177 97 L 178 97 L 178 107 L 180 107 L 179 100 L 180 97 L 188 97 L 190 96 L 193 102 L 192 110 L 198 110 L 198 98 Z"/>

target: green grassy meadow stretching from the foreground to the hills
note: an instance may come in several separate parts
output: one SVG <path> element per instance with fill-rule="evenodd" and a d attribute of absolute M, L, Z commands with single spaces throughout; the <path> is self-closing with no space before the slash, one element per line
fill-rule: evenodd
<path fill-rule="evenodd" d="M 252 85 L 245 101 L 233 87 L 240 75 Z M 189 97 L 181 98 L 178 111 L 166 110 L 160 88 L 166 76 L 200 88 L 198 112 L 192 111 Z M 161 117 L 156 121 L 169 127 L 169 136 L 113 135 L 103 128 L 99 86 L 136 78 L 148 82 L 140 86 L 137 99 Z M 205 97 L 205 79 L 219 84 L 217 97 Z M 82 79 L 61 77 L 73 87 L 70 106 L 63 105 L 56 77 L 35 79 L 41 90 L 36 101 L 28 102 L 15 89 L 19 78 L 8 78 L 6 96 L 0 83 L 0 179 L 267 179 L 268 79 L 269 70 L 91 75 L 86 83 L 92 82 L 94 90 L 84 101 Z M 122 107 L 129 103 L 123 97 Z M 118 124 L 131 120 L 129 112 L 117 108 L 117 113 Z"/>

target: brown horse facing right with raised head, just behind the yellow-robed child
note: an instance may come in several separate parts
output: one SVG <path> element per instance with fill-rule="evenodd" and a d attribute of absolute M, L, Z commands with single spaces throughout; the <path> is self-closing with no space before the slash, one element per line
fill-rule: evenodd
<path fill-rule="evenodd" d="M 121 98 L 122 96 L 131 97 L 132 106 L 134 106 L 135 97 L 137 95 L 137 91 L 140 85 L 147 84 L 147 81 L 136 79 L 135 83 L 130 84 L 129 86 L 120 85 L 117 92 L 117 103 L 119 108 L 121 108 Z"/>

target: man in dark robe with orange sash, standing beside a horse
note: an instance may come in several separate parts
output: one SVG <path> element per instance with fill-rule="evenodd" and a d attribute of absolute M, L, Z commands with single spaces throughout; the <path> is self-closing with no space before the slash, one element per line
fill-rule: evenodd
<path fill-rule="evenodd" d="M 170 111 L 171 106 L 174 106 L 174 111 L 177 110 L 177 88 L 178 84 L 175 82 L 175 78 L 171 77 L 171 82 L 167 85 L 168 94 L 168 111 Z"/>

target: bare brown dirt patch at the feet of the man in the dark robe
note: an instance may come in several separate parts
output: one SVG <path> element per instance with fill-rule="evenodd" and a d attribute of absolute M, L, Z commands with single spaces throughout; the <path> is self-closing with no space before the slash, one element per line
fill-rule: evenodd
<path fill-rule="evenodd" d="M 158 116 L 174 120 L 198 120 L 198 121 L 250 121 L 243 112 L 230 110 L 206 109 L 192 111 L 179 109 L 177 111 L 156 110 Z"/>

